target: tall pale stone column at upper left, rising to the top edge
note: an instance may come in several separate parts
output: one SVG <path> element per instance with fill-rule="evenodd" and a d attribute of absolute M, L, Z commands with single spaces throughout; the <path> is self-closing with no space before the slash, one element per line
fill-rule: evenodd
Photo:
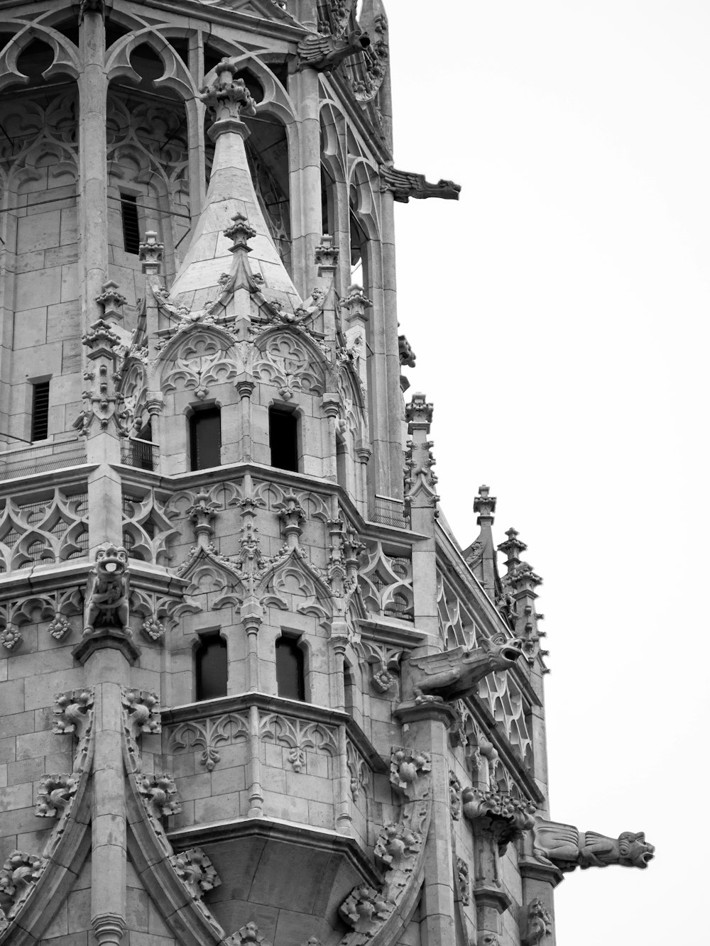
<path fill-rule="evenodd" d="M 108 272 L 106 93 L 109 83 L 104 69 L 103 3 L 81 4 L 79 44 L 80 282 L 82 325 L 86 331 L 98 316 L 96 297 Z"/>

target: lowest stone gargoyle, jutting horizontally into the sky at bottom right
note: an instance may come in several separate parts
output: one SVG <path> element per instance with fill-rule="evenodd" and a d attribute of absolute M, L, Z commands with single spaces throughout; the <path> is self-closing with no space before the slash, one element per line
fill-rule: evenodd
<path fill-rule="evenodd" d="M 592 831 L 580 832 L 574 825 L 542 818 L 536 819 L 533 832 L 535 857 L 564 871 L 610 864 L 645 870 L 655 850 L 652 844 L 647 844 L 644 832 L 622 832 L 618 837 L 607 837 Z"/>

